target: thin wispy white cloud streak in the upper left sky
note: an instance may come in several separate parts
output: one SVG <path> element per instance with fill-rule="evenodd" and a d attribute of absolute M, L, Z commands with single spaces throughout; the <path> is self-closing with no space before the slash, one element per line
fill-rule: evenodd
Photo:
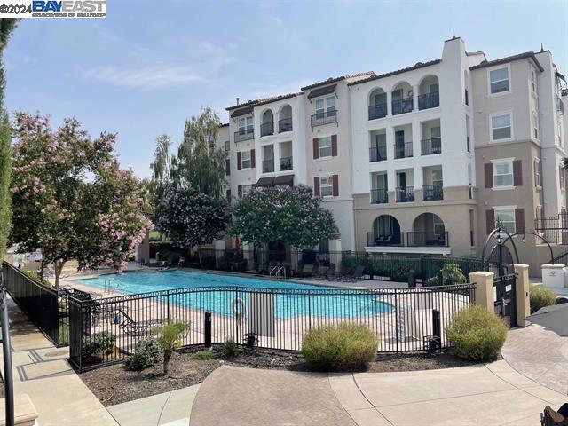
<path fill-rule="evenodd" d="M 84 71 L 87 78 L 116 86 L 138 89 L 157 89 L 205 81 L 192 67 L 92 67 Z"/>

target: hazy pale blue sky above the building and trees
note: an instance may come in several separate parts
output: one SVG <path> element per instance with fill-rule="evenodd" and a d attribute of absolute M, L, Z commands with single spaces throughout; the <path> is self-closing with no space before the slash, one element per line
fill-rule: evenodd
<path fill-rule="evenodd" d="M 488 59 L 552 51 L 568 75 L 568 0 L 107 0 L 104 20 L 22 20 L 4 53 L 6 106 L 117 133 L 123 168 L 149 177 L 155 138 L 178 142 L 211 106 L 439 59 L 461 36 Z"/>

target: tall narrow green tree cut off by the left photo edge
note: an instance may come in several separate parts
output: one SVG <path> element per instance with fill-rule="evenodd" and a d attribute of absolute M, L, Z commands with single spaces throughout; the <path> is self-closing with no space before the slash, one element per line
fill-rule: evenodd
<path fill-rule="evenodd" d="M 8 44 L 12 30 L 18 20 L 13 18 L 0 19 L 0 259 L 4 259 L 6 242 L 10 233 L 12 209 L 10 201 L 10 180 L 12 173 L 12 126 L 8 112 L 4 106 L 4 91 L 6 75 L 2 56 Z"/>

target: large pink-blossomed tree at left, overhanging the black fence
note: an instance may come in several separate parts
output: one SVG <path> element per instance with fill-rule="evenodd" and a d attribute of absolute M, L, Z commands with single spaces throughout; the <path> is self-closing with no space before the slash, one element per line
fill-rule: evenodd
<path fill-rule="evenodd" d="M 91 138 L 75 119 L 17 112 L 13 124 L 12 234 L 20 252 L 41 249 L 55 285 L 67 261 L 120 270 L 151 226 L 141 187 L 120 170 L 115 135 Z"/>

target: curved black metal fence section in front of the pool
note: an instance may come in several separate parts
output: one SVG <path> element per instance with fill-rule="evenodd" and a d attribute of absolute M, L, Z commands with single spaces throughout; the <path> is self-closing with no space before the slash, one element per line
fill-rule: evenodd
<path fill-rule="evenodd" d="M 232 338 L 244 343 L 300 351 L 305 333 L 342 321 L 365 324 L 378 336 L 380 352 L 423 351 L 429 336 L 446 348 L 446 326 L 454 312 L 474 302 L 474 284 L 431 288 L 273 289 L 180 288 L 86 300 L 69 297 L 70 360 L 79 370 L 121 362 L 160 324 L 190 327 L 183 346 Z M 210 323 L 206 320 L 210 312 Z"/>

